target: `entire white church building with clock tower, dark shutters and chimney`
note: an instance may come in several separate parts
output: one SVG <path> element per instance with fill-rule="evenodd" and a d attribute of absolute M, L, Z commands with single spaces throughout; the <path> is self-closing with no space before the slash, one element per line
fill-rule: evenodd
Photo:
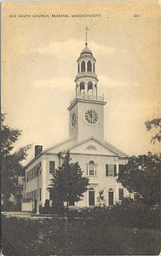
<path fill-rule="evenodd" d="M 70 151 L 72 162 L 78 161 L 84 177 L 89 177 L 89 188 L 75 207 L 98 205 L 99 191 L 103 189 L 106 206 L 112 206 L 129 197 L 129 192 L 117 182 L 119 167 L 128 162 L 129 155 L 107 143 L 104 139 L 103 96 L 98 96 L 98 78 L 95 74 L 95 57 L 85 44 L 78 57 L 78 74 L 75 81 L 76 96 L 70 102 L 69 138 L 52 148 L 35 147 L 35 157 L 26 165 L 24 200 L 39 197 L 44 206 L 49 199 L 50 178 L 61 165 L 61 155 Z M 74 207 L 72 206 L 72 207 Z"/>

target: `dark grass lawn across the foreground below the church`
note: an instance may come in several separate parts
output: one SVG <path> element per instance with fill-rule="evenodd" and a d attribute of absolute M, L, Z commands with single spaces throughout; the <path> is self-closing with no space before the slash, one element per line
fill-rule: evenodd
<path fill-rule="evenodd" d="M 94 219 L 3 218 L 4 256 L 157 255 L 159 230 L 125 229 Z"/>

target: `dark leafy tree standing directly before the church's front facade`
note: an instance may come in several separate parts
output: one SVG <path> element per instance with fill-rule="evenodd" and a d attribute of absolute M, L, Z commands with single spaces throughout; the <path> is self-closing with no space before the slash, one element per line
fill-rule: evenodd
<path fill-rule="evenodd" d="M 51 199 L 53 201 L 66 201 L 67 209 L 69 202 L 81 200 L 89 185 L 89 178 L 83 177 L 78 162 L 71 163 L 71 160 L 68 151 L 65 157 L 62 157 L 62 165 L 55 170 L 48 188 Z"/>

